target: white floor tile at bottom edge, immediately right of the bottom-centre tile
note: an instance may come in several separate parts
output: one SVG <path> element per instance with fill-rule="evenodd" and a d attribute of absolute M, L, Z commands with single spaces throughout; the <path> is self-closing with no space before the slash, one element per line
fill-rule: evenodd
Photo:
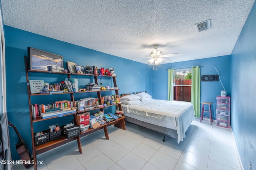
<path fill-rule="evenodd" d="M 173 170 L 178 160 L 157 151 L 148 162 L 161 170 Z"/>

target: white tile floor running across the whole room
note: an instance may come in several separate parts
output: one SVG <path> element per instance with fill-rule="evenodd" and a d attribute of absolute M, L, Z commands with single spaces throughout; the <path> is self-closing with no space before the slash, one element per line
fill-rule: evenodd
<path fill-rule="evenodd" d="M 127 130 L 108 127 L 77 142 L 55 148 L 37 156 L 44 164 L 39 170 L 241 170 L 230 128 L 193 121 L 184 141 L 126 123 Z M 25 170 L 23 165 L 13 170 Z M 33 167 L 28 168 L 32 170 Z"/>

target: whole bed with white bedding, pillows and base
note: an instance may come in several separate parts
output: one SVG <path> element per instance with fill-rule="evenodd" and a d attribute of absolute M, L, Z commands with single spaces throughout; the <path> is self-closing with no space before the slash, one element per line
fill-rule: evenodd
<path fill-rule="evenodd" d="M 146 92 L 126 93 L 120 97 L 126 122 L 130 122 L 172 138 L 178 143 L 194 120 L 194 107 L 190 102 L 152 99 Z"/>

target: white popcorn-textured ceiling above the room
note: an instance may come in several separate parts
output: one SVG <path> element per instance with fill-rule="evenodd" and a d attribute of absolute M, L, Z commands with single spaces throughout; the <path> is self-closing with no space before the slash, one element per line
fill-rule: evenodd
<path fill-rule="evenodd" d="M 144 63 L 229 55 L 255 0 L 1 0 L 4 25 Z M 194 24 L 211 19 L 212 28 Z M 85 54 L 86 55 L 86 54 Z M 148 62 L 146 64 L 149 64 Z"/>

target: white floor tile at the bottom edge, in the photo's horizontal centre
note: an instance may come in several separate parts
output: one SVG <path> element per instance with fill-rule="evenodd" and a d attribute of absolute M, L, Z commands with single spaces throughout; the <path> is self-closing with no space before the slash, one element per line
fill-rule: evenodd
<path fill-rule="evenodd" d="M 116 163 L 125 170 L 139 170 L 146 164 L 146 162 L 147 161 L 140 158 L 140 156 L 129 152 Z"/>

